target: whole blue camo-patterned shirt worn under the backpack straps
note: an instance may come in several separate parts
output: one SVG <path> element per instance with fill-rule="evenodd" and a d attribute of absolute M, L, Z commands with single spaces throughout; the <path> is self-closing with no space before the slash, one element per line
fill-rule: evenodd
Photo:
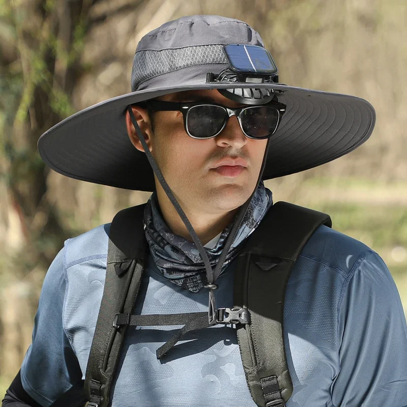
<path fill-rule="evenodd" d="M 102 299 L 109 225 L 65 242 L 50 266 L 21 366 L 24 390 L 43 406 L 85 401 L 86 372 Z M 232 305 L 232 262 L 218 279 L 217 306 Z M 206 311 L 207 290 L 165 280 L 150 260 L 136 313 Z M 130 327 L 112 386 L 112 407 L 251 407 L 236 331 L 191 333 L 168 354 L 155 351 L 178 327 Z M 326 226 L 317 229 L 290 276 L 284 337 L 294 392 L 287 407 L 407 406 L 407 327 L 382 259 Z"/>

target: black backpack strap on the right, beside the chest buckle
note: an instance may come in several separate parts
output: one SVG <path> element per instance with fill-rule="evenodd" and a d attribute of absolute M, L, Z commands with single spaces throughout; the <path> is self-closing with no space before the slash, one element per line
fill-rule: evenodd
<path fill-rule="evenodd" d="M 259 406 L 284 406 L 293 392 L 284 352 L 285 287 L 305 243 L 331 219 L 287 202 L 277 202 L 239 255 L 234 303 L 248 308 L 251 324 L 238 326 L 247 384 Z"/>

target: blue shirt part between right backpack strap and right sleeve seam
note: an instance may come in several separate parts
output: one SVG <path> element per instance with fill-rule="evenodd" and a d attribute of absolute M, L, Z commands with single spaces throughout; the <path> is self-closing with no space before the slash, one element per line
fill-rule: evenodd
<path fill-rule="evenodd" d="M 301 251 L 284 300 L 285 351 L 293 400 L 317 405 L 318 400 L 330 399 L 332 377 L 340 371 L 340 304 L 347 281 L 370 252 L 363 243 L 327 226 L 319 226 Z"/>

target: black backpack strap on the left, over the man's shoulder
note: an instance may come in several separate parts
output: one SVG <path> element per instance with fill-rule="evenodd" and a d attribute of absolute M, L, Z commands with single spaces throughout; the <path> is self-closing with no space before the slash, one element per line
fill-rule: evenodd
<path fill-rule="evenodd" d="M 89 407 L 110 405 L 111 382 L 127 331 L 127 326 L 113 326 L 115 315 L 132 313 L 148 256 L 144 206 L 120 211 L 110 225 L 106 279 L 84 383 Z"/>

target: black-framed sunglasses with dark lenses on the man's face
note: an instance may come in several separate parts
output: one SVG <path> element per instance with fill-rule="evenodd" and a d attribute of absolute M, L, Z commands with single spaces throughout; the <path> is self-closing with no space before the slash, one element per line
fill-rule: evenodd
<path fill-rule="evenodd" d="M 217 136 L 233 115 L 238 118 L 245 136 L 264 139 L 274 134 L 280 124 L 286 106 L 279 102 L 269 102 L 259 106 L 231 108 L 217 103 L 205 102 L 166 102 L 149 100 L 142 105 L 154 111 L 181 111 L 185 131 L 193 138 Z"/>

